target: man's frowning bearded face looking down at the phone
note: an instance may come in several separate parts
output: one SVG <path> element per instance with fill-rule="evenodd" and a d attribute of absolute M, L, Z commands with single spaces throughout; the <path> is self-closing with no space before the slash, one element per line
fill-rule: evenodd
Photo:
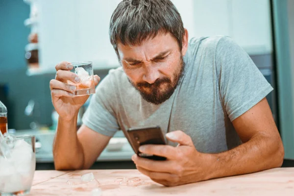
<path fill-rule="evenodd" d="M 172 96 L 184 70 L 186 48 L 180 51 L 170 33 L 158 34 L 139 46 L 119 44 L 118 51 L 129 82 L 145 100 L 160 104 Z"/>

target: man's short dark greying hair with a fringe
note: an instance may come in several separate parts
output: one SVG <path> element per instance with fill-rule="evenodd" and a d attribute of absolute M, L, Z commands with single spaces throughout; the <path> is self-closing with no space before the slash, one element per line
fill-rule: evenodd
<path fill-rule="evenodd" d="M 118 58 L 119 42 L 140 45 L 158 33 L 171 33 L 182 49 L 185 29 L 180 14 L 170 0 L 123 0 L 111 16 L 109 37 Z"/>

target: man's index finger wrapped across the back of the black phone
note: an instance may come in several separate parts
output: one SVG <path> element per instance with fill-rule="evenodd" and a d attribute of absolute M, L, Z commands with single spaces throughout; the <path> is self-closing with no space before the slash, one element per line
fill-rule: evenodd
<path fill-rule="evenodd" d="M 168 159 L 176 159 L 177 149 L 169 145 L 142 145 L 139 151 L 147 154 L 167 157 Z"/>

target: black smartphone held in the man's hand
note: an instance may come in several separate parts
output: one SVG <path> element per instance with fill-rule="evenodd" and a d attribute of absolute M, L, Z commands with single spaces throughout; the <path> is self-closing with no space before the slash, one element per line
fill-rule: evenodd
<path fill-rule="evenodd" d="M 147 159 L 166 160 L 166 157 L 156 156 L 153 154 L 141 153 L 139 147 L 146 144 L 166 145 L 164 136 L 159 126 L 149 126 L 140 128 L 129 128 L 127 130 L 129 143 L 133 147 L 135 153 Z"/>

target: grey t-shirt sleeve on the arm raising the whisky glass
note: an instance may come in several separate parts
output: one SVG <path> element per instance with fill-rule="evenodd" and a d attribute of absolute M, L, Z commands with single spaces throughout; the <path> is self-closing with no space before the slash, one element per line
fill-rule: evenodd
<path fill-rule="evenodd" d="M 89 128 L 112 137 L 120 129 L 115 114 L 116 95 L 113 75 L 108 74 L 98 84 L 96 94 L 83 115 L 82 122 Z"/>

